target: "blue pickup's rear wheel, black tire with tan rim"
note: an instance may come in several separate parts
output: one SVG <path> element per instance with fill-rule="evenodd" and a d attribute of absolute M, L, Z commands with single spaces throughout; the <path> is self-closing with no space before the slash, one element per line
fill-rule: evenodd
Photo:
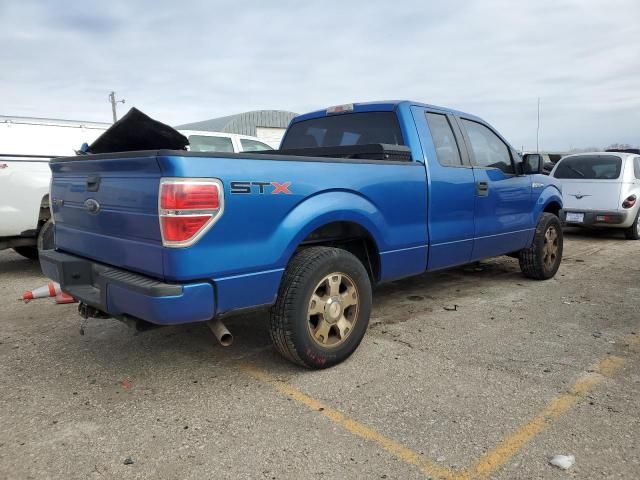
<path fill-rule="evenodd" d="M 323 282 L 334 280 L 337 282 L 335 288 L 338 290 L 345 288 L 343 282 L 349 287 L 339 290 L 341 293 L 338 296 L 331 297 L 333 293 L 329 293 L 329 283 Z M 318 295 L 323 288 L 321 285 L 326 285 L 326 297 L 323 296 L 323 299 L 328 298 L 322 303 L 325 313 L 313 315 L 310 313 L 310 309 L 315 305 L 312 296 Z M 331 291 L 335 293 L 333 289 Z M 344 296 L 348 292 L 354 291 L 353 298 L 356 299 L 356 303 L 343 308 L 341 299 L 346 298 Z M 331 307 L 331 302 L 334 306 L 336 303 L 339 304 L 337 312 L 327 310 Z M 371 282 L 362 263 L 346 250 L 328 247 L 307 248 L 296 254 L 285 270 L 278 298 L 271 308 L 271 339 L 282 356 L 294 363 L 317 369 L 331 367 L 346 360 L 356 350 L 367 330 L 370 314 Z M 336 316 L 331 317 L 332 315 Z M 347 320 L 348 316 L 351 317 L 350 320 Z M 341 338 L 338 325 L 343 317 L 351 323 L 349 328 L 344 329 L 347 333 Z M 323 336 L 318 334 L 320 323 L 317 323 L 315 334 L 312 333 L 315 328 L 314 320 L 323 322 L 325 326 L 332 321 L 337 323 L 332 324 L 326 331 L 326 336 Z M 326 345 L 321 344 L 323 341 L 327 342 Z M 330 341 L 336 343 L 332 345 Z"/>

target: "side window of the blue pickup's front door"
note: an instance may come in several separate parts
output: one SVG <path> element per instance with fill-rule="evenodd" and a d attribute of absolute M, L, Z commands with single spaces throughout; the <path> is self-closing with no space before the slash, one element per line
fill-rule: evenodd
<path fill-rule="evenodd" d="M 475 166 L 499 168 L 505 173 L 515 173 L 509 148 L 500 137 L 480 123 L 464 118 L 462 123 L 471 142 Z"/>

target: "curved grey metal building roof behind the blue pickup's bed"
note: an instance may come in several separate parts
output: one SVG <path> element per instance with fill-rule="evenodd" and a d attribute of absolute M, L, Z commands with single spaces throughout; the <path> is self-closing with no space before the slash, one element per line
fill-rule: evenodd
<path fill-rule="evenodd" d="M 297 113 L 284 110 L 255 110 L 201 122 L 185 123 L 175 128 L 210 132 L 239 133 L 256 136 L 256 127 L 287 128 Z"/>

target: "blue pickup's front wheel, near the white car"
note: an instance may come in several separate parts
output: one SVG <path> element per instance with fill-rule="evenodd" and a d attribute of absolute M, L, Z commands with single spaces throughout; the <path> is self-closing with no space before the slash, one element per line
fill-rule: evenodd
<path fill-rule="evenodd" d="M 553 234 L 555 234 L 555 238 L 551 243 L 554 253 L 551 253 L 551 249 L 548 249 L 547 245 Z M 543 213 L 536 226 L 533 244 L 520 251 L 520 270 L 522 273 L 535 280 L 553 278 L 562 261 L 562 244 L 560 219 L 552 213 Z"/>

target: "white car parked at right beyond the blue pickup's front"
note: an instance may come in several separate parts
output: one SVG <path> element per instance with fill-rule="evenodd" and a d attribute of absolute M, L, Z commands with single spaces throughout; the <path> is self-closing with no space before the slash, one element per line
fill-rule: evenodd
<path fill-rule="evenodd" d="M 624 230 L 640 239 L 640 155 L 593 152 L 560 160 L 551 176 L 562 185 L 567 225 Z"/>

